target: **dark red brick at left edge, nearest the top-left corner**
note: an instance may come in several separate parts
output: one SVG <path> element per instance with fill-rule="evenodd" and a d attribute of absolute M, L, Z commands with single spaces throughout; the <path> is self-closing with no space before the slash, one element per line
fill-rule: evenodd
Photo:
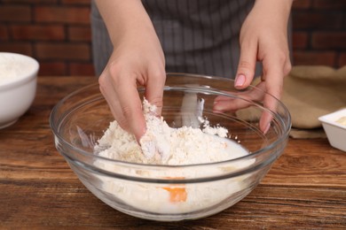
<path fill-rule="evenodd" d="M 29 5 L 2 5 L 0 7 L 0 21 L 28 22 L 31 20 Z"/>

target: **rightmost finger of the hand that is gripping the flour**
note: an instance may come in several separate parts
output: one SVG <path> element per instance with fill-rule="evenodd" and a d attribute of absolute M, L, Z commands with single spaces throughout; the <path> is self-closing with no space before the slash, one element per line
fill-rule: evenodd
<path fill-rule="evenodd" d="M 145 87 L 145 98 L 149 103 L 156 105 L 157 115 L 161 115 L 163 87 L 166 80 L 166 73 L 164 69 L 156 69 L 148 73 L 148 80 Z"/>

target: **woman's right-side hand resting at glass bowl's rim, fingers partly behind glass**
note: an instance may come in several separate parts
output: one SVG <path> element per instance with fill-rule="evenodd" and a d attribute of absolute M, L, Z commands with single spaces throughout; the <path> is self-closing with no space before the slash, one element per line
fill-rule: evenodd
<path fill-rule="evenodd" d="M 235 88 L 247 88 L 254 79 L 256 61 L 263 64 L 262 81 L 257 85 L 278 99 L 283 78 L 291 70 L 287 42 L 287 22 L 293 0 L 256 0 L 240 31 L 240 62 L 235 78 Z M 262 99 L 262 98 L 258 98 Z M 276 100 L 264 96 L 264 106 L 275 111 Z M 227 111 L 230 102 L 216 100 L 216 111 Z M 264 113 L 260 128 L 266 133 L 271 116 Z"/>

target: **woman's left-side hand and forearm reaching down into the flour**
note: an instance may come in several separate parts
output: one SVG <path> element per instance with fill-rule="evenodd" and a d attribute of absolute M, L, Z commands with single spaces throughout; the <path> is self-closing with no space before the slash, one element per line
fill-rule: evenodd
<path fill-rule="evenodd" d="M 114 51 L 99 77 L 99 88 L 120 126 L 139 141 L 145 118 L 137 85 L 161 113 L 165 61 L 153 24 L 139 0 L 99 0 Z"/>

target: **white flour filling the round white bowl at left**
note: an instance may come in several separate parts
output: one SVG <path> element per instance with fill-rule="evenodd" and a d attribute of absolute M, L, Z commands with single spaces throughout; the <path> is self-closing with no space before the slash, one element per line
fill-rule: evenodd
<path fill-rule="evenodd" d="M 0 85 L 18 80 L 34 69 L 35 65 L 28 63 L 25 58 L 0 53 Z"/>

